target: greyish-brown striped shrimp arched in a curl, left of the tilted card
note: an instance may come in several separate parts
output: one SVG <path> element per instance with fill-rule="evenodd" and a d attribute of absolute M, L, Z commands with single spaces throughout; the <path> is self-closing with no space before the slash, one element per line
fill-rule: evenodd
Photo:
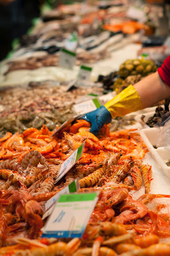
<path fill-rule="evenodd" d="M 48 163 L 45 157 L 42 156 L 40 152 L 32 150 L 31 152 L 24 156 L 21 162 L 21 166 L 26 169 L 29 164 L 31 164 L 32 166 L 37 166 L 39 162 L 40 164 L 48 168 Z"/>

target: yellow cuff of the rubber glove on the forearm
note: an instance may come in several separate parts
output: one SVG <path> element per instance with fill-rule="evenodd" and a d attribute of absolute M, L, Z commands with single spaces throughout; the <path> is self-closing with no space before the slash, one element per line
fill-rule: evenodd
<path fill-rule="evenodd" d="M 125 90 L 117 94 L 105 104 L 105 108 L 111 113 L 112 118 L 124 116 L 130 112 L 141 110 L 142 101 L 138 92 L 130 84 Z"/>

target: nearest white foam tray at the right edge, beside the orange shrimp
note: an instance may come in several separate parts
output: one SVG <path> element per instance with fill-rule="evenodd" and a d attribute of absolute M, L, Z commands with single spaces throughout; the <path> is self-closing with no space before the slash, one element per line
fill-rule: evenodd
<path fill-rule="evenodd" d="M 156 137 L 158 132 L 159 128 L 146 128 L 140 130 L 140 135 L 156 163 L 160 166 L 164 174 L 170 178 L 170 167 L 168 167 L 164 162 L 164 160 L 170 159 L 170 151 L 165 150 L 164 147 L 157 149 L 153 147 L 153 145 L 156 144 Z"/>

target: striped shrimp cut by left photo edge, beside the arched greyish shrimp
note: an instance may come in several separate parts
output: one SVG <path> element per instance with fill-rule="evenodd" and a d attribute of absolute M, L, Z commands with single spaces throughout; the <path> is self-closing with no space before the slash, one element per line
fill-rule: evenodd
<path fill-rule="evenodd" d="M 0 169 L 8 169 L 18 172 L 21 176 L 26 176 L 22 166 L 14 160 L 4 160 L 0 162 Z"/>

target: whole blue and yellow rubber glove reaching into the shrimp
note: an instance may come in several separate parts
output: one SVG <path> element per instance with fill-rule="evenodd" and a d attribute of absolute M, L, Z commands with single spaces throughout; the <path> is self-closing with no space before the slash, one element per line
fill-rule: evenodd
<path fill-rule="evenodd" d="M 97 110 L 87 113 L 81 119 L 90 122 L 90 132 L 98 135 L 102 126 L 111 122 L 111 118 L 124 116 L 142 108 L 143 106 L 138 92 L 132 85 L 129 85 L 112 100 L 109 100 L 105 106 L 101 106 Z"/>

